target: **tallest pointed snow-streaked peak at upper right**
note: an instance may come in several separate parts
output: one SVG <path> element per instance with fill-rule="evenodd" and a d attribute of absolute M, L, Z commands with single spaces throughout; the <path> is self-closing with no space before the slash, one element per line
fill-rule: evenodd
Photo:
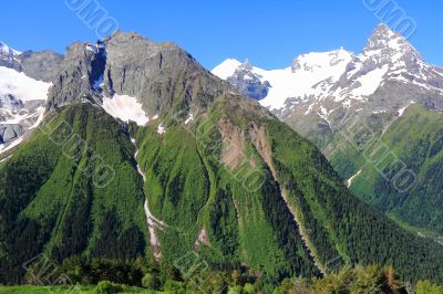
<path fill-rule="evenodd" d="M 380 86 L 392 82 L 443 93 L 441 86 L 435 86 L 441 84 L 441 78 L 440 70 L 425 63 L 404 36 L 380 24 L 363 51 L 348 64 L 332 95 L 336 101 L 364 101 Z"/>

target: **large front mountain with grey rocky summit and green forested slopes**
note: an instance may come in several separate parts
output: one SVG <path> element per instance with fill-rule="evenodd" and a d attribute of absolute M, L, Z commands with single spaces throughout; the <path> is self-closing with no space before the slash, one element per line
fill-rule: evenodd
<path fill-rule="evenodd" d="M 268 283 L 353 263 L 443 277 L 439 243 L 358 200 L 317 147 L 190 54 L 136 33 L 69 46 L 42 123 L 0 161 L 0 283 L 40 253 L 190 253 Z"/>

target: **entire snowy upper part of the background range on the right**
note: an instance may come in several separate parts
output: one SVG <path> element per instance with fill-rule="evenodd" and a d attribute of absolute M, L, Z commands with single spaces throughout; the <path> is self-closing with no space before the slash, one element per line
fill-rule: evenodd
<path fill-rule="evenodd" d="M 332 129 L 343 112 L 395 112 L 411 101 L 443 109 L 443 69 L 427 64 L 404 36 L 385 24 L 373 30 L 359 54 L 342 48 L 311 52 L 297 56 L 291 66 L 274 71 L 228 60 L 213 73 L 239 90 L 246 85 L 248 91 L 239 92 L 247 95 L 268 82 L 260 104 L 300 126 L 320 123 Z M 305 122 L 302 117 L 309 118 Z"/>

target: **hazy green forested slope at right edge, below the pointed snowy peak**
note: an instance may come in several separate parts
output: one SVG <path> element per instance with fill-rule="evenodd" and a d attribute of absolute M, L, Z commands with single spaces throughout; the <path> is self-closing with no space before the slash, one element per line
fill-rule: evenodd
<path fill-rule="evenodd" d="M 390 125 L 371 148 L 380 150 L 373 153 L 380 156 L 368 157 L 349 150 L 346 160 L 341 156 L 339 160 L 334 160 L 338 157 L 332 158 L 332 162 L 338 167 L 352 166 L 350 174 L 361 170 L 352 180 L 350 188 L 363 200 L 401 222 L 423 228 L 423 232 L 430 230 L 442 234 L 442 113 L 412 105 Z M 393 156 L 388 158 L 388 151 L 392 151 L 395 158 Z M 383 154 L 387 157 L 385 162 L 380 162 Z M 401 166 L 410 169 L 413 176 L 410 182 L 404 185 L 405 189 L 395 189 L 394 176 Z M 347 174 L 344 169 L 338 170 Z M 346 177 L 350 174 L 348 172 Z"/>

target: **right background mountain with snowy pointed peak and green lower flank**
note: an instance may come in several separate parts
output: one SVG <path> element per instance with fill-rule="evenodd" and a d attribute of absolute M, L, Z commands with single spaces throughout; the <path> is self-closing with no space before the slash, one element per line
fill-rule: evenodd
<path fill-rule="evenodd" d="M 404 129 L 393 127 L 399 117 L 403 119 L 402 114 L 411 104 L 421 105 L 423 112 L 431 112 L 431 117 L 435 112 L 443 109 L 443 69 L 426 63 L 408 40 L 384 24 L 374 29 L 361 53 L 343 52 L 341 55 L 342 57 L 338 59 L 334 59 L 331 52 L 300 55 L 295 60 L 291 70 L 286 70 L 290 77 L 281 76 L 279 82 L 272 82 L 267 76 L 267 73 L 277 71 L 262 73 L 262 70 L 254 67 L 254 72 L 264 76 L 261 81 L 265 76 L 270 81 L 271 91 L 260 99 L 260 104 L 315 143 L 346 181 L 353 180 L 357 175 L 363 179 L 368 176 L 364 175 L 368 166 L 372 166 L 373 169 L 374 165 L 389 166 L 408 161 L 405 172 L 408 171 L 411 178 L 419 177 L 418 182 L 414 182 L 414 191 L 401 191 L 401 197 L 393 196 L 392 191 L 381 193 L 373 180 L 364 185 L 361 182 L 364 188 L 357 188 L 357 183 L 352 183 L 351 188 L 358 197 L 371 204 L 375 203 L 391 217 L 395 211 L 395 220 L 400 223 L 422 228 L 422 232 L 431 230 L 441 234 L 441 229 L 436 229 L 436 219 L 443 217 L 442 213 L 433 209 L 423 209 L 419 220 L 419 217 L 412 217 L 415 213 L 412 204 L 402 208 L 404 199 L 416 203 L 416 200 L 412 199 L 416 198 L 418 190 L 423 192 L 433 189 L 431 187 L 440 187 L 435 181 L 432 182 L 434 186 L 430 186 L 430 182 L 421 179 L 422 175 L 427 172 L 429 162 L 409 159 L 400 161 L 404 156 L 412 155 L 410 149 L 396 148 L 395 144 L 388 144 L 391 147 L 385 153 L 369 154 L 369 150 L 373 149 L 373 143 L 378 143 L 375 146 L 379 148 L 385 148 L 380 144 L 384 143 L 385 134 L 394 134 L 395 138 L 404 135 L 400 133 Z M 307 60 L 307 56 L 311 59 Z M 333 66 L 337 61 L 342 62 Z M 230 63 L 230 66 L 236 65 Z M 329 70 L 331 71 L 328 72 Z M 307 72 L 307 77 L 297 76 L 298 71 Z M 219 75 L 216 70 L 214 73 Z M 225 73 L 226 77 L 219 76 L 229 81 L 228 69 L 225 69 Z M 279 94 L 271 95 L 272 91 Z M 433 144 L 432 139 L 425 137 L 434 134 L 430 134 L 424 125 L 414 129 L 412 137 L 405 137 L 410 145 L 425 149 Z M 435 125 L 435 132 L 440 130 L 441 127 Z M 393 153 L 389 154 L 390 151 Z M 388 154 L 390 159 L 385 158 Z M 390 162 L 387 162 L 388 160 Z M 388 181 L 384 186 L 394 189 L 395 175 L 387 178 L 382 170 L 377 174 Z M 430 193 L 425 195 L 432 195 L 430 199 L 433 199 L 436 210 L 442 211 L 440 193 Z M 374 201 L 375 198 L 378 200 Z"/>

